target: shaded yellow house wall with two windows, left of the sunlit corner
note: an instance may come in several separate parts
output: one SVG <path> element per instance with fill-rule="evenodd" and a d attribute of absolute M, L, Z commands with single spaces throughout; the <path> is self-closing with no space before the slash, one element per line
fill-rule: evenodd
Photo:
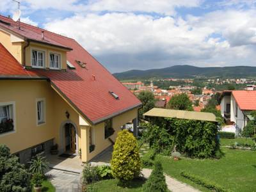
<path fill-rule="evenodd" d="M 77 113 L 51 88 L 47 81 L 0 81 L 0 102 L 15 101 L 15 132 L 0 134 L 0 143 L 12 153 L 55 138 L 60 144 L 60 127 L 69 120 L 79 128 Z M 45 99 L 45 124 L 36 125 L 36 98 Z M 79 130 L 79 129 L 78 129 Z M 78 136 L 80 131 L 78 131 Z"/>

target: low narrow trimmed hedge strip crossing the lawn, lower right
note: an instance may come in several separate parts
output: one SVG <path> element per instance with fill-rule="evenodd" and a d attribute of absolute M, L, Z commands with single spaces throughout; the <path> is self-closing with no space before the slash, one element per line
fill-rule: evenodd
<path fill-rule="evenodd" d="M 204 186 L 207 189 L 210 189 L 212 191 L 216 191 L 216 192 L 231 192 L 230 189 L 225 189 L 222 186 L 219 186 L 217 184 L 212 183 L 209 180 L 205 180 L 202 179 L 196 175 L 193 175 L 191 173 L 187 173 L 187 172 L 181 172 L 180 175 L 182 175 L 183 177 L 186 177 L 187 179 L 195 182 L 196 184 L 199 184 L 200 186 Z"/>

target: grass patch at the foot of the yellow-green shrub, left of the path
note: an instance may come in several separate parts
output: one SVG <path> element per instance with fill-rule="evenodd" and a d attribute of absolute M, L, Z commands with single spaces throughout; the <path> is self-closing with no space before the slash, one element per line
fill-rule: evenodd
<path fill-rule="evenodd" d="M 118 186 L 117 179 L 108 179 L 108 180 L 100 180 L 99 182 L 95 182 L 94 184 L 90 184 L 88 186 L 88 191 L 97 191 L 97 192 L 119 192 L 119 191 L 142 191 L 142 185 L 145 183 L 145 179 L 134 179 L 127 184 L 125 188 Z"/>

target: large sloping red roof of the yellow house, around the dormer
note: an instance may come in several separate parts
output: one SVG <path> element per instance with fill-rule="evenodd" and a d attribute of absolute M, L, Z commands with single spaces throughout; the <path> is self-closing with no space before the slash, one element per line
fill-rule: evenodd
<path fill-rule="evenodd" d="M 16 24 L 12 19 L 0 15 L 0 20 L 10 22 L 11 26 L 8 26 L 9 30 L 19 33 L 22 36 L 33 37 L 36 40 L 40 40 L 39 36 L 42 33 L 42 29 L 21 22 L 20 27 L 23 31 L 26 31 L 25 33 L 21 32 L 19 29 L 15 29 L 14 26 L 16 26 Z M 3 26 L 3 24 L 1 24 L 1 26 Z M 67 69 L 67 72 L 63 70 L 33 70 L 28 73 L 34 76 L 44 76 L 51 79 L 52 85 L 61 92 L 87 120 L 93 124 L 97 124 L 107 118 L 141 105 L 140 100 L 125 88 L 122 83 L 115 79 L 115 77 L 95 60 L 92 55 L 83 49 L 76 40 L 45 30 L 44 36 L 51 44 L 72 48 L 72 51 L 67 52 L 67 60 L 72 63 L 76 69 Z M 1 47 L 3 49 L 3 46 Z M 9 59 L 7 58 L 6 62 L 8 62 Z M 76 63 L 76 60 L 86 63 L 86 68 L 80 67 Z M 13 66 L 15 64 L 15 68 L 18 68 L 16 67 L 17 62 L 11 62 Z M 4 63 L 1 62 L 0 65 L 1 68 L 3 68 L 2 65 L 4 65 Z M 8 69 L 6 69 L 6 67 L 4 68 L 5 69 L 1 71 L 2 75 L 8 74 Z M 27 71 L 19 67 L 15 75 L 25 75 L 25 72 Z M 95 80 L 93 76 L 95 76 Z M 116 93 L 119 99 L 115 99 L 109 92 Z"/>

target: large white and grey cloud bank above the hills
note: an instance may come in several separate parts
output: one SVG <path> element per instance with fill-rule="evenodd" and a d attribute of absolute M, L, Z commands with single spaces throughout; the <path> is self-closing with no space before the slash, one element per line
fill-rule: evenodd
<path fill-rule="evenodd" d="M 75 38 L 115 71 L 120 65 L 125 70 L 151 68 L 156 63 L 157 67 L 254 65 L 254 15 L 254 10 L 223 10 L 201 17 L 189 15 L 184 20 L 134 13 L 90 13 L 54 20 L 45 28 Z"/>

